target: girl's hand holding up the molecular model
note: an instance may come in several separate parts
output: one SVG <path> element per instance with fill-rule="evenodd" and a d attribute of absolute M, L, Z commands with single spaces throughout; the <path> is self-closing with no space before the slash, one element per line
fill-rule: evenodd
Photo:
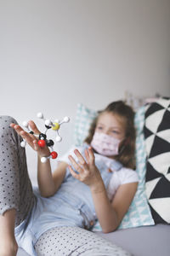
<path fill-rule="evenodd" d="M 28 122 L 29 126 L 31 127 L 31 130 L 34 132 L 35 135 L 39 135 L 41 133 L 41 131 L 39 131 L 37 129 L 37 125 L 31 120 Z M 20 125 L 16 125 L 16 124 L 10 124 L 10 126 L 12 128 L 14 128 L 14 130 L 26 140 L 26 143 L 28 143 L 31 148 L 33 148 L 35 151 L 37 151 L 37 154 L 42 157 L 42 156 L 48 156 L 50 154 L 50 151 L 48 149 L 47 146 L 45 146 L 44 148 L 41 148 L 38 145 L 38 137 L 32 135 L 29 132 L 24 131 Z"/>

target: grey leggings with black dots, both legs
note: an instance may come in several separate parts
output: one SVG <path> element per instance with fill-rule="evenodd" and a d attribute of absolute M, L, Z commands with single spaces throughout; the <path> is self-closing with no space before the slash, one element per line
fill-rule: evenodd
<path fill-rule="evenodd" d="M 20 224 L 33 207 L 35 196 L 26 166 L 26 151 L 20 147 L 20 136 L 11 128 L 16 121 L 0 116 L 0 214 L 15 208 L 15 226 Z M 122 248 L 94 233 L 78 227 L 47 230 L 35 245 L 38 256 L 114 256 L 130 255 Z"/>

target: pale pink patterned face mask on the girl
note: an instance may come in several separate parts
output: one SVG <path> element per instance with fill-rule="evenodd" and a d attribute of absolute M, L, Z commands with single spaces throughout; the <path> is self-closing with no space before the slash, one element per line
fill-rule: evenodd
<path fill-rule="evenodd" d="M 105 133 L 95 132 L 91 142 L 92 148 L 94 148 L 99 154 L 106 156 L 119 154 L 119 144 L 121 140 L 111 137 Z"/>

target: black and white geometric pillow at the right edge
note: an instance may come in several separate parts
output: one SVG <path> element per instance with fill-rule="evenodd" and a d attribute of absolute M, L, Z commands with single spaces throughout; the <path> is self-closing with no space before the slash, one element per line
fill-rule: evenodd
<path fill-rule="evenodd" d="M 146 195 L 155 223 L 170 224 L 170 99 L 145 112 Z"/>

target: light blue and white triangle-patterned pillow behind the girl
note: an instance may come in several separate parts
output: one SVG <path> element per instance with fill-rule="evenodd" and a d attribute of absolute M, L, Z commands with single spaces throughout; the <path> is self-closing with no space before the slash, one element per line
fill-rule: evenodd
<path fill-rule="evenodd" d="M 135 114 L 135 126 L 137 129 L 136 138 L 136 164 L 139 175 L 139 186 L 136 195 L 133 198 L 133 202 L 128 209 L 127 214 L 122 219 L 122 223 L 119 229 L 126 229 L 131 227 L 137 227 L 142 225 L 154 224 L 153 218 L 150 214 L 150 207 L 148 206 L 147 198 L 145 195 L 145 160 L 146 154 L 144 151 L 144 109 L 145 107 L 139 108 L 139 111 Z M 85 137 L 88 135 L 88 129 L 92 123 L 97 112 L 86 108 L 82 104 L 77 106 L 77 118 L 75 124 L 75 142 L 77 145 L 81 145 Z M 94 225 L 94 231 L 100 231 L 101 227 L 99 221 Z"/>

